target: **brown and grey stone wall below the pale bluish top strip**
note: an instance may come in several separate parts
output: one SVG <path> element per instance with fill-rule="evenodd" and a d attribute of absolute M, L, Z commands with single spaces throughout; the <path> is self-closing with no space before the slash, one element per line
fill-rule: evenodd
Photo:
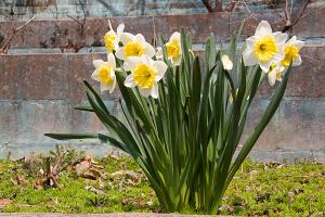
<path fill-rule="evenodd" d="M 143 33 L 147 40 L 154 35 L 169 36 L 181 27 L 194 39 L 194 50 L 202 55 L 203 42 L 210 33 L 226 43 L 243 17 L 249 14 L 197 14 L 140 17 L 114 17 L 113 25 L 123 22 L 128 31 Z M 256 13 L 244 28 L 243 39 L 253 34 L 260 20 L 268 20 L 276 29 L 284 25 L 283 14 L 274 11 Z M 0 23 L 3 40 L 13 26 L 23 22 Z M 155 26 L 155 28 L 154 28 Z M 86 102 L 82 80 L 90 80 L 92 60 L 104 59 L 102 36 L 107 30 L 106 18 L 88 18 L 84 36 L 72 20 L 35 21 L 12 41 L 6 55 L 0 55 L 0 157 L 11 152 L 15 157 L 53 149 L 57 141 L 43 137 L 46 132 L 99 132 L 101 123 L 92 114 L 74 111 Z M 291 33 L 307 41 L 302 50 L 303 65 L 295 68 L 283 102 L 253 149 L 256 159 L 315 157 L 325 158 L 325 9 L 313 9 Z M 86 42 L 78 53 L 61 52 L 67 43 Z M 44 46 L 46 44 L 46 46 Z M 95 47 L 98 46 L 98 47 Z M 92 82 L 96 89 L 98 84 Z M 259 119 L 270 100 L 272 89 L 265 85 L 250 111 L 248 129 Z M 119 115 L 119 93 L 104 94 L 109 110 Z M 58 142 L 62 143 L 62 142 Z M 108 149 L 98 141 L 76 141 L 95 154 Z"/>

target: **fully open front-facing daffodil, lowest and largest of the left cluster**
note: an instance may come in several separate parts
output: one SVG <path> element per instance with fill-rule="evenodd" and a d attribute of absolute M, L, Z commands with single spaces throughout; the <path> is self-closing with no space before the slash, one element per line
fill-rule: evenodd
<path fill-rule="evenodd" d="M 131 74 L 126 78 L 125 86 L 139 87 L 139 91 L 144 97 L 158 98 L 158 81 L 167 71 L 167 64 L 162 61 L 154 61 L 148 55 L 141 58 L 133 56 L 127 59 L 126 71 Z"/>

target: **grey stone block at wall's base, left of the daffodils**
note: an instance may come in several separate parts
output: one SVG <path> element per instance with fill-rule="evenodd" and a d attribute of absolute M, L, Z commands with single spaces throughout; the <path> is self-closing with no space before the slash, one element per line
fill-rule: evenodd
<path fill-rule="evenodd" d="M 116 114 L 114 101 L 105 104 Z M 65 100 L 0 100 L 0 158 L 9 153 L 14 157 L 47 153 L 56 144 L 70 144 L 99 156 L 108 153 L 108 146 L 100 145 L 98 140 L 63 142 L 44 137 L 47 132 L 106 132 L 94 114 L 75 111 L 73 106 Z"/>

